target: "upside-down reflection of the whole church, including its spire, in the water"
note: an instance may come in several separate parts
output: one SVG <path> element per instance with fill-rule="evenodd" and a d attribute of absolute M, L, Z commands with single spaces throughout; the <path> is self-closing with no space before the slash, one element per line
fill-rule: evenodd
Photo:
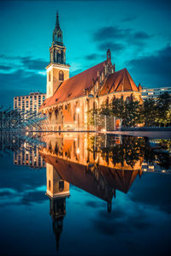
<path fill-rule="evenodd" d="M 106 135 L 101 138 L 104 148 L 108 143 L 121 144 L 120 137 L 115 137 L 113 142 Z M 110 212 L 116 190 L 127 193 L 136 176 L 142 174 L 141 159 L 133 166 L 126 161 L 114 166 L 110 158 L 104 158 L 102 152 L 97 151 L 94 139 L 90 134 L 46 135 L 47 146 L 40 151 L 46 162 L 46 194 L 50 198 L 57 251 L 66 215 L 66 199 L 70 194 L 69 183 L 106 201 Z"/>

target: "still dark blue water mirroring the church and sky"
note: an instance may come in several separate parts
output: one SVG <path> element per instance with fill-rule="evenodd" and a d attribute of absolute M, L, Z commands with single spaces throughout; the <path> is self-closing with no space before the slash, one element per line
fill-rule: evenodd
<path fill-rule="evenodd" d="M 0 134 L 0 252 L 168 255 L 171 140 Z"/>

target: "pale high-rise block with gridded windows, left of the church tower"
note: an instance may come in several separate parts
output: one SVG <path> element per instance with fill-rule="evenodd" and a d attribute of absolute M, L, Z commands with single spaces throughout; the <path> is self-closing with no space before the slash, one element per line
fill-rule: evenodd
<path fill-rule="evenodd" d="M 16 96 L 14 98 L 14 109 L 31 110 L 38 113 L 38 109 L 44 103 L 45 97 L 46 94 L 41 92 L 31 92 L 29 95 Z"/>

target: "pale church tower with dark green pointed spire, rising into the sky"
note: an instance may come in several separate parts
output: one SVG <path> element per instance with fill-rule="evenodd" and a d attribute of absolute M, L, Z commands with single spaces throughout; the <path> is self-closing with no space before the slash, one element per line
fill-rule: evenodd
<path fill-rule="evenodd" d="M 53 31 L 50 47 L 50 64 L 46 67 L 47 86 L 46 98 L 51 97 L 63 80 L 69 78 L 69 65 L 66 64 L 66 47 L 62 41 L 62 30 L 59 24 L 59 15 L 56 13 L 56 27 Z"/>

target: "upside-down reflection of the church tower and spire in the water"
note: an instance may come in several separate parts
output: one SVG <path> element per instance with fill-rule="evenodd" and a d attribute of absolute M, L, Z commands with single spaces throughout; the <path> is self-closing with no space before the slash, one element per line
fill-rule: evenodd
<path fill-rule="evenodd" d="M 66 198 L 69 196 L 69 183 L 62 180 L 53 165 L 46 165 L 46 194 L 50 197 L 50 216 L 53 220 L 53 232 L 56 235 L 56 250 L 62 233 L 63 218 L 66 214 Z"/>

